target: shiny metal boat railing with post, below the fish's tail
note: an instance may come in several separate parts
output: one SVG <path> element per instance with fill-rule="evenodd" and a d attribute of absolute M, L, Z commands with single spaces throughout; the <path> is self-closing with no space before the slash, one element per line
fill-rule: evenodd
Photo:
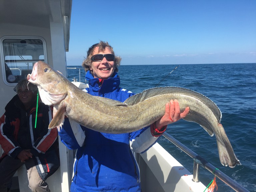
<path fill-rule="evenodd" d="M 200 155 L 197 155 L 194 151 L 190 150 L 188 147 L 180 143 L 178 140 L 173 138 L 168 133 L 164 133 L 163 136 L 168 139 L 170 142 L 172 142 L 174 145 L 176 145 L 178 148 L 180 148 L 183 152 L 185 152 L 188 156 L 193 158 L 194 160 L 194 166 L 193 166 L 193 181 L 199 182 L 199 167 L 200 165 L 208 170 L 209 172 L 213 173 L 216 177 L 218 177 L 221 181 L 226 183 L 229 187 L 231 187 L 233 190 L 237 192 L 249 192 L 247 189 L 245 189 L 243 186 L 238 184 L 236 181 L 231 179 L 229 176 L 221 172 L 219 169 L 214 167 L 212 164 L 210 164 L 208 161 L 206 161 L 204 158 L 202 158 Z"/>

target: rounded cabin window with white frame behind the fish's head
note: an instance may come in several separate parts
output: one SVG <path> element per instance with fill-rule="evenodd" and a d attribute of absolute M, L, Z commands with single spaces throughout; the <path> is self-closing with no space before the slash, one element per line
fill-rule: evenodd
<path fill-rule="evenodd" d="M 37 61 L 47 62 L 43 38 L 1 38 L 2 74 L 7 85 L 26 79 Z"/>

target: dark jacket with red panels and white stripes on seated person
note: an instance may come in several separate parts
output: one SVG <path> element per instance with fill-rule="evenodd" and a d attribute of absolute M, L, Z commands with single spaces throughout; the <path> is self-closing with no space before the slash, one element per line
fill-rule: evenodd
<path fill-rule="evenodd" d="M 17 158 L 24 149 L 30 149 L 34 156 L 45 153 L 58 136 L 56 128 L 48 129 L 51 120 L 51 108 L 39 103 L 35 128 L 36 101 L 32 108 L 25 110 L 18 95 L 15 95 L 6 105 L 5 113 L 0 119 L 0 144 L 5 152 L 2 157 L 8 154 Z M 54 145 L 51 149 L 55 147 Z"/>

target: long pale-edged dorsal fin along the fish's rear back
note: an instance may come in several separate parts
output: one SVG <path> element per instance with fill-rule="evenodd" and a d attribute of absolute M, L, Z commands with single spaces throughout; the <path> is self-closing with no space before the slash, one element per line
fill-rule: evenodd
<path fill-rule="evenodd" d="M 192 91 L 190 89 L 181 88 L 181 87 L 155 87 L 155 88 L 147 89 L 141 93 L 138 93 L 136 95 L 129 97 L 124 101 L 124 103 L 126 103 L 127 105 L 135 105 L 150 97 L 163 95 L 163 94 L 184 94 L 184 95 L 189 95 L 191 97 L 197 98 L 211 109 L 211 111 L 213 112 L 213 114 L 215 115 L 219 123 L 221 121 L 221 116 L 222 116 L 221 111 L 212 100 L 202 95 L 201 93 Z"/>

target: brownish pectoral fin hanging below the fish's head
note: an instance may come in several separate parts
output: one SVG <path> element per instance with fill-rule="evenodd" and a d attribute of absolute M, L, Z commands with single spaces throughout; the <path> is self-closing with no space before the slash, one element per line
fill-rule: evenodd
<path fill-rule="evenodd" d="M 63 104 L 58 109 L 54 106 L 53 119 L 50 122 L 48 128 L 52 129 L 54 127 L 57 127 L 57 129 L 60 130 L 60 127 L 62 127 L 64 123 L 65 112 L 66 112 L 66 105 Z"/>

